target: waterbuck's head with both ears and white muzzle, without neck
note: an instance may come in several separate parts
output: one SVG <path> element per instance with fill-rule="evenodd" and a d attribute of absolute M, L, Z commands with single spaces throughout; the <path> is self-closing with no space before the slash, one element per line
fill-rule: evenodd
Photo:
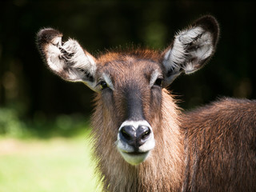
<path fill-rule="evenodd" d="M 106 129 L 98 130 L 105 133 L 98 136 L 102 146 L 104 141 L 115 143 L 131 165 L 144 162 L 158 142 L 158 132 L 165 132 L 161 130 L 162 91 L 179 74 L 202 68 L 217 42 L 218 22 L 212 16 L 178 32 L 164 51 L 118 50 L 94 57 L 74 39 L 62 42 L 58 30 L 38 32 L 38 49 L 50 70 L 97 92 L 97 121 Z"/>

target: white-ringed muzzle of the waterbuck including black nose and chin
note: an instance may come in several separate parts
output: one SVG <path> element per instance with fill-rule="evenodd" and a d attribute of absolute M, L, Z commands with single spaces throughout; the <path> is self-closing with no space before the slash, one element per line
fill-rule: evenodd
<path fill-rule="evenodd" d="M 131 165 L 144 162 L 154 145 L 153 130 L 144 120 L 123 122 L 118 130 L 118 150 Z"/>

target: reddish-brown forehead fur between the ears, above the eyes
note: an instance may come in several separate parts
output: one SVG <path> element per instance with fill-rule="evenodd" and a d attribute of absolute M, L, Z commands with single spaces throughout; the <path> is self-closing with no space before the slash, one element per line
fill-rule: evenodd
<path fill-rule="evenodd" d="M 115 86 L 150 82 L 155 70 L 161 74 L 161 53 L 148 49 L 108 51 L 97 59 L 97 78 L 108 75 Z M 128 83 L 129 82 L 129 83 Z"/>

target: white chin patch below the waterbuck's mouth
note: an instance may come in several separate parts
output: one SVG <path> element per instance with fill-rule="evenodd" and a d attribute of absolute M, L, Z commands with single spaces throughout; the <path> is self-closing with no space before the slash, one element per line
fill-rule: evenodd
<path fill-rule="evenodd" d="M 148 158 L 150 151 L 147 151 L 146 153 L 140 153 L 140 154 L 134 154 L 134 153 L 126 153 L 123 151 L 120 151 L 122 154 L 122 158 L 126 160 L 126 162 L 130 163 L 132 166 L 136 166 L 141 162 L 144 162 L 146 158 Z"/>

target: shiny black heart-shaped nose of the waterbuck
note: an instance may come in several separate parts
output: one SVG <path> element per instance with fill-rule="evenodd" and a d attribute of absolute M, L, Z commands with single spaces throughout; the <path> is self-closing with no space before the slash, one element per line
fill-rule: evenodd
<path fill-rule="evenodd" d="M 122 126 L 120 130 L 120 138 L 130 146 L 138 149 L 148 138 L 150 138 L 150 128 L 148 126 L 138 126 L 136 130 L 134 126 Z"/>

